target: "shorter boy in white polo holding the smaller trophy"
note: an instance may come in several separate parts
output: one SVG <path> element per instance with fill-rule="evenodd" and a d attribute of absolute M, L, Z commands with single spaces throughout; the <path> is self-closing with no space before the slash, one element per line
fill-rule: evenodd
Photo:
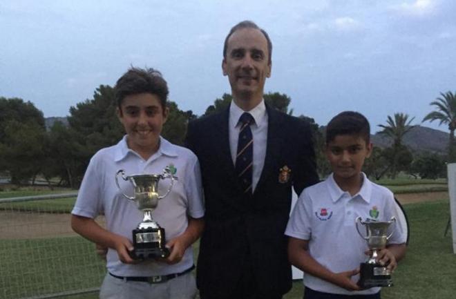
<path fill-rule="evenodd" d="M 380 298 L 380 288 L 360 289 L 359 264 L 365 262 L 367 242 L 355 220 L 398 218 L 391 191 L 361 172 L 372 152 L 369 122 L 360 113 L 345 111 L 326 128 L 326 155 L 332 174 L 305 189 L 287 224 L 289 261 L 304 271 L 305 299 Z M 374 211 L 374 212 L 372 212 Z M 401 223 L 378 261 L 393 271 L 406 252 Z"/>

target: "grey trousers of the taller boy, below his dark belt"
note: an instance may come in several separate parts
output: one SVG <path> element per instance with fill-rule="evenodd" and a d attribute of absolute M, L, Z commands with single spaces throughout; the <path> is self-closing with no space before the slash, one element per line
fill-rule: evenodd
<path fill-rule="evenodd" d="M 193 299 L 196 282 L 192 273 L 178 276 L 167 282 L 126 282 L 106 274 L 99 291 L 100 299 Z"/>

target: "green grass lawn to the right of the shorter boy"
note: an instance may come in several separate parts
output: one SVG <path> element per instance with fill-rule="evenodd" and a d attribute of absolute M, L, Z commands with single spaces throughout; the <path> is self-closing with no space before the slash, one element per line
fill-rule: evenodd
<path fill-rule="evenodd" d="M 448 201 L 405 206 L 410 221 L 410 244 L 406 258 L 395 272 L 395 287 L 383 298 L 451 299 L 456 294 L 456 255 L 451 232 L 444 237 Z"/>

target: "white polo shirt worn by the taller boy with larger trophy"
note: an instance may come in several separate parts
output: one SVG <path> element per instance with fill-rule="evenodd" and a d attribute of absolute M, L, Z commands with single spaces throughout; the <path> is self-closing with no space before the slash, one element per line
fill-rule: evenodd
<path fill-rule="evenodd" d="M 137 209 L 136 202 L 127 200 L 115 184 L 115 174 L 123 169 L 126 175 L 162 174 L 166 166 L 176 168 L 171 193 L 158 203 L 152 212 L 153 220 L 165 229 L 167 241 L 187 229 L 189 215 L 202 218 L 202 184 L 200 164 L 196 155 L 189 149 L 171 144 L 160 137 L 160 148 L 144 160 L 126 144 L 126 136 L 115 146 L 102 148 L 91 159 L 77 196 L 74 215 L 96 218 L 104 212 L 106 229 L 124 235 L 132 241 L 132 231 L 142 222 L 143 213 Z M 169 179 L 160 180 L 159 194 L 166 193 Z M 134 196 L 133 185 L 119 176 L 122 191 Z M 132 242 L 133 244 L 133 242 Z M 108 249 L 106 257 L 108 271 L 117 276 L 157 276 L 180 273 L 193 264 L 193 251 L 189 247 L 178 264 L 145 261 L 140 264 L 124 264 L 114 249 Z"/>

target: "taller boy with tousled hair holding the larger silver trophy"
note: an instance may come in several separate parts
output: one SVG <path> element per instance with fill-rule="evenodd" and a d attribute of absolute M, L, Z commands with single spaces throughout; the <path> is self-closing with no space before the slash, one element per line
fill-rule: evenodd
<path fill-rule="evenodd" d="M 84 238 L 108 248 L 108 273 L 100 290 L 102 299 L 194 298 L 196 283 L 191 244 L 202 232 L 204 209 L 200 166 L 196 155 L 160 136 L 167 120 L 168 87 L 162 75 L 151 68 L 131 68 L 115 86 L 117 116 L 126 135 L 118 144 L 95 153 L 88 165 L 71 226 Z M 115 174 L 161 174 L 166 166 L 178 177 L 171 193 L 160 200 L 153 219 L 166 231 L 169 257 L 160 260 L 133 260 L 132 231 L 142 222 L 143 213 L 123 193 L 133 195 L 133 186 L 124 182 L 119 190 Z M 161 194 L 169 180 L 160 182 Z M 164 189 L 164 190 L 162 190 Z M 106 229 L 95 222 L 104 211 Z"/>

